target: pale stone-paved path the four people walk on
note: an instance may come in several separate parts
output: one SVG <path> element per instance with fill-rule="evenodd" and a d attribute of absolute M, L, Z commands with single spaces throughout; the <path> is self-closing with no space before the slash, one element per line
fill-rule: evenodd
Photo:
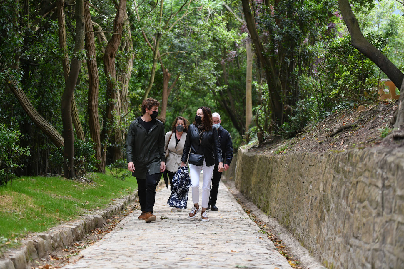
<path fill-rule="evenodd" d="M 156 192 L 156 221 L 139 221 L 134 211 L 63 268 L 291 268 L 223 183 L 209 222 L 188 218 L 191 192 L 183 211 L 170 212 L 168 197 L 165 188 Z"/>

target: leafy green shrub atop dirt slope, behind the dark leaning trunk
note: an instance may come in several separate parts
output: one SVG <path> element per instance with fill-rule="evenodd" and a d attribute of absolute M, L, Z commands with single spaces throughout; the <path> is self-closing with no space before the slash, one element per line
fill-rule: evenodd
<path fill-rule="evenodd" d="M 365 35 L 370 44 L 384 54 L 388 50 L 388 39 L 382 35 Z M 318 65 L 322 103 L 328 110 L 335 104 L 366 104 L 377 98 L 380 69 L 366 56 L 351 45 L 348 36 L 328 46 Z M 348 108 L 348 107 L 344 107 Z"/>

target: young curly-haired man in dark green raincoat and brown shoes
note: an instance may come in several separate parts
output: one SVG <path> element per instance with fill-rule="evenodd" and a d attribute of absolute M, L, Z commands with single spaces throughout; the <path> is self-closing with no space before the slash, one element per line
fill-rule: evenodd
<path fill-rule="evenodd" d="M 164 124 L 156 119 L 159 105 L 153 98 L 143 100 L 143 116 L 130 123 L 126 138 L 128 170 L 136 177 L 142 211 L 139 219 L 146 222 L 156 220 L 153 215 L 156 186 L 161 173 L 166 169 Z"/>

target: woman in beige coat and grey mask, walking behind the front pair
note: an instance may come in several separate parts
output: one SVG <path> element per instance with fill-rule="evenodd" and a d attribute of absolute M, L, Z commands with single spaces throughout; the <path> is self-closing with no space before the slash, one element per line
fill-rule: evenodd
<path fill-rule="evenodd" d="M 183 117 L 175 118 L 164 137 L 164 151 L 166 152 L 166 172 L 170 179 L 170 192 L 173 190 L 173 177 L 181 165 L 181 157 L 184 150 L 185 139 L 188 131 L 188 120 Z M 182 210 L 173 207 L 171 211 Z"/>

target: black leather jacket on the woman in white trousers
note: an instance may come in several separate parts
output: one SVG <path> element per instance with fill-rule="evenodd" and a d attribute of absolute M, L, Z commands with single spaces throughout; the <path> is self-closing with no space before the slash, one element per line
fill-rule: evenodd
<path fill-rule="evenodd" d="M 199 144 L 198 127 L 194 124 L 189 125 L 181 161 L 187 161 L 189 150 L 191 150 L 192 153 L 203 154 L 207 166 L 215 165 L 215 157 L 219 163 L 223 162 L 219 135 L 215 127 L 213 127 L 211 131 L 203 132 L 202 140 Z"/>

